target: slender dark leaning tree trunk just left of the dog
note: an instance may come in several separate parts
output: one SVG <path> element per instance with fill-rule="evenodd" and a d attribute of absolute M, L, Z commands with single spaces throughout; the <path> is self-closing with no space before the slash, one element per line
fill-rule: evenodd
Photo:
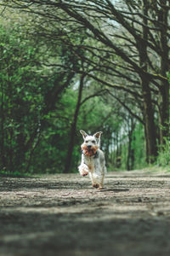
<path fill-rule="evenodd" d="M 69 145 L 68 145 L 68 152 L 67 152 L 67 156 L 66 156 L 66 160 L 65 160 L 64 173 L 68 173 L 71 169 L 72 152 L 73 152 L 73 148 L 74 148 L 75 135 L 76 135 L 76 131 L 77 131 L 77 118 L 78 118 L 78 113 L 79 113 L 79 110 L 80 110 L 80 107 L 81 107 L 81 100 L 82 100 L 83 80 L 84 80 L 84 75 L 82 75 L 82 77 L 80 79 L 77 106 L 76 106 L 73 121 L 72 121 L 72 124 L 71 124 L 70 142 L 69 142 Z"/>

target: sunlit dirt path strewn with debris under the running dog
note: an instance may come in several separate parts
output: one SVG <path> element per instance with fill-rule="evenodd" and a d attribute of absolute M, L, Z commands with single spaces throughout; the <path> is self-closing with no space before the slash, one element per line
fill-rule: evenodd
<path fill-rule="evenodd" d="M 0 255 L 170 255 L 170 174 L 0 178 Z"/>

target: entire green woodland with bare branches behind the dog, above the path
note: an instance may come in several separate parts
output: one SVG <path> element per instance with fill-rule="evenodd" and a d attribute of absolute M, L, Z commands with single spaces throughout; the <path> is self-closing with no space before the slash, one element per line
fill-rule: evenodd
<path fill-rule="evenodd" d="M 168 166 L 170 3 L 0 3 L 1 173 L 77 172 L 80 129 L 108 170 Z"/>

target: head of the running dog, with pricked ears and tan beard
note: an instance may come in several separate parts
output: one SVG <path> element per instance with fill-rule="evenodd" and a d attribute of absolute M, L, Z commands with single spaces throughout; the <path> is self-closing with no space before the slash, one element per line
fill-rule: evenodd
<path fill-rule="evenodd" d="M 88 135 L 85 131 L 80 130 L 80 132 L 84 139 L 84 143 L 81 146 L 83 154 L 88 156 L 94 155 L 99 148 L 102 131 L 98 131 L 92 136 Z"/>

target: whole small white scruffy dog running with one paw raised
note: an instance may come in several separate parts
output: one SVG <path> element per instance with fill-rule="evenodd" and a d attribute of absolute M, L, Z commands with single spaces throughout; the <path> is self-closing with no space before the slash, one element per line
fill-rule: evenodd
<path fill-rule="evenodd" d="M 81 146 L 82 162 L 78 166 L 78 170 L 82 176 L 89 174 L 94 188 L 103 189 L 106 167 L 105 155 L 99 149 L 102 131 L 96 132 L 93 136 L 89 136 L 82 130 L 80 132 L 82 133 L 84 143 Z"/>

